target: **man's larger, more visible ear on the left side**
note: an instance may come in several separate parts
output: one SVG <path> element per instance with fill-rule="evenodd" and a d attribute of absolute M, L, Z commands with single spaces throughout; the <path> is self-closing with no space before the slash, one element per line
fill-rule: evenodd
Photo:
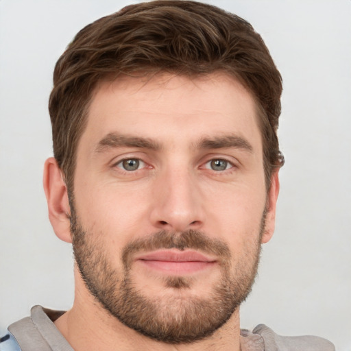
<path fill-rule="evenodd" d="M 44 165 L 43 185 L 47 197 L 49 220 L 55 234 L 71 243 L 69 197 L 63 175 L 55 158 L 48 158 Z"/>

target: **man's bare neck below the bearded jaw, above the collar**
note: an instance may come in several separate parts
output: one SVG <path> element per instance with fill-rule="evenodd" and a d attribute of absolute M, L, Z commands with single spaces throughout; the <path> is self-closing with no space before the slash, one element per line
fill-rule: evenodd
<path fill-rule="evenodd" d="M 212 336 L 194 343 L 173 345 L 145 337 L 119 322 L 93 299 L 84 283 L 77 279 L 73 307 L 57 319 L 55 325 L 75 351 L 240 350 L 239 309 Z"/>

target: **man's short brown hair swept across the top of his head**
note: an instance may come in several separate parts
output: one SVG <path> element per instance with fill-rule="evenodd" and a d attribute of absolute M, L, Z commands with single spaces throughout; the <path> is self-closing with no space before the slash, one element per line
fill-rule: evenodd
<path fill-rule="evenodd" d="M 223 71 L 252 93 L 263 136 L 265 179 L 281 167 L 282 80 L 250 23 L 213 5 L 182 0 L 138 3 L 84 27 L 56 63 L 49 112 L 53 154 L 73 189 L 77 143 L 97 82 L 119 74 L 207 75 Z"/>

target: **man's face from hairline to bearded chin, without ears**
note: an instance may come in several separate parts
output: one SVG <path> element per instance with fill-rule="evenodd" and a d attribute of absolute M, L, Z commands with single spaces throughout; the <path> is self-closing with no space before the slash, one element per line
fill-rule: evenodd
<path fill-rule="evenodd" d="M 250 93 L 220 74 L 100 84 L 73 204 L 77 264 L 110 314 L 169 343 L 211 335 L 250 292 L 265 232 Z"/>

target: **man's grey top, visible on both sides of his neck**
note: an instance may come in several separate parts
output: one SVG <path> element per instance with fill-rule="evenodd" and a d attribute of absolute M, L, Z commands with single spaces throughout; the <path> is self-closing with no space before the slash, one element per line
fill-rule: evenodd
<path fill-rule="evenodd" d="M 0 339 L 0 351 L 74 351 L 53 324 L 63 313 L 34 306 L 30 317 L 8 327 L 9 334 Z M 241 351 L 335 351 L 321 337 L 282 337 L 264 324 L 252 332 L 241 330 L 240 342 Z"/>

